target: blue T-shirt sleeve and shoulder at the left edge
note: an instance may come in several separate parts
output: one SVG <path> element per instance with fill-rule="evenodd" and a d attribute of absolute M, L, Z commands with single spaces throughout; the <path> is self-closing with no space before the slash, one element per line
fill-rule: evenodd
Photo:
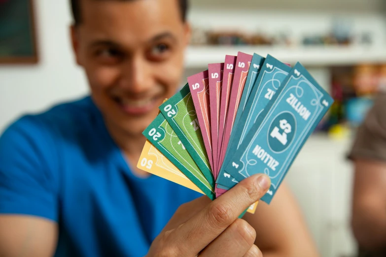
<path fill-rule="evenodd" d="M 4 131 L 0 136 L 0 213 L 58 220 L 60 160 L 69 149 L 67 139 L 81 131 L 82 122 L 89 123 L 85 117 L 92 113 L 91 104 L 88 98 L 60 104 L 25 115 Z"/>

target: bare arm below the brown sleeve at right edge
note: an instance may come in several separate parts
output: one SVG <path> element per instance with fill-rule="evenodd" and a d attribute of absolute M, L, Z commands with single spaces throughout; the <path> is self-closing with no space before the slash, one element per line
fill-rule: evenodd
<path fill-rule="evenodd" d="M 355 160 L 351 225 L 359 245 L 386 245 L 386 161 Z"/>

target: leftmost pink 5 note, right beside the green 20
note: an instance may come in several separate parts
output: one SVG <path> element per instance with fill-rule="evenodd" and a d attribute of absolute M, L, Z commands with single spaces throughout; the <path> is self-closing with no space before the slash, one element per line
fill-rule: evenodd
<path fill-rule="evenodd" d="M 188 77 L 189 89 L 196 109 L 198 123 L 207 150 L 208 160 L 213 173 L 212 140 L 211 140 L 211 111 L 208 70 Z"/>

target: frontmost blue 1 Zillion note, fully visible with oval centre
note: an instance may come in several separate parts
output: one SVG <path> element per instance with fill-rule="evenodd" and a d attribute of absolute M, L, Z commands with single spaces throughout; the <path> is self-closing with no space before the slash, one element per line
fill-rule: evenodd
<path fill-rule="evenodd" d="M 226 165 L 226 173 L 239 181 L 256 173 L 267 174 L 272 184 L 261 199 L 270 203 L 332 103 L 331 96 L 297 63 Z"/>

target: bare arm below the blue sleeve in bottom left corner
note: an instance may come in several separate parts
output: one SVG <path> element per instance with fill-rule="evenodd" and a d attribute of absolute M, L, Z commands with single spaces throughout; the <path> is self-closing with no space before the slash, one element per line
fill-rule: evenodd
<path fill-rule="evenodd" d="M 0 215 L 1 257 L 52 257 L 58 237 L 56 223 L 32 216 Z"/>

